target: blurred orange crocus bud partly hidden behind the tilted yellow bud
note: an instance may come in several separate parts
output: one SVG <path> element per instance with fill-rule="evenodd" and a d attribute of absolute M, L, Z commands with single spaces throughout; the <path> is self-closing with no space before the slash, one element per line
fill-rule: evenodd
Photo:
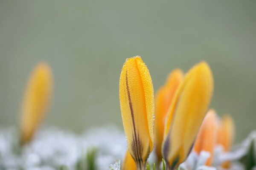
<path fill-rule="evenodd" d="M 183 72 L 180 69 L 175 69 L 169 74 L 165 85 L 163 85 L 156 93 L 154 128 L 156 153 L 159 160 L 162 160 L 163 130 L 166 114 L 182 80 Z"/>

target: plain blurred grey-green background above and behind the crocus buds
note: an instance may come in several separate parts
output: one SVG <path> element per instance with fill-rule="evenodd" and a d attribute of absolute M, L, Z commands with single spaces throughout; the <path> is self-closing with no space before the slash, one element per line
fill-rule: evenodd
<path fill-rule="evenodd" d="M 122 129 L 119 74 L 140 55 L 155 91 L 173 68 L 205 60 L 211 107 L 230 113 L 236 142 L 256 129 L 256 1 L 0 1 L 0 125 L 18 125 L 26 81 L 36 63 L 54 74 L 44 125 L 74 132 Z"/>

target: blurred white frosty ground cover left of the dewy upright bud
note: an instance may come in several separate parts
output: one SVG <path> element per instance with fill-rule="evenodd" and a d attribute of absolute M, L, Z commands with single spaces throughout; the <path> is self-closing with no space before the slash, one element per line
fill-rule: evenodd
<path fill-rule="evenodd" d="M 125 136 L 115 127 L 87 130 L 81 136 L 50 128 L 39 131 L 35 139 L 20 148 L 15 130 L 0 130 L 0 170 L 55 170 L 62 165 L 76 169 L 83 154 L 95 148 L 96 166 L 108 170 L 126 151 Z"/>

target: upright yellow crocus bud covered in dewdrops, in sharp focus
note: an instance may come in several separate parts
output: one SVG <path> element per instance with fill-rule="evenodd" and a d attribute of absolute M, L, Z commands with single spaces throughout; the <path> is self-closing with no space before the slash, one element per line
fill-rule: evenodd
<path fill-rule="evenodd" d="M 137 169 L 145 169 L 154 144 L 154 90 L 139 56 L 126 59 L 119 79 L 119 99 L 128 150 Z"/>

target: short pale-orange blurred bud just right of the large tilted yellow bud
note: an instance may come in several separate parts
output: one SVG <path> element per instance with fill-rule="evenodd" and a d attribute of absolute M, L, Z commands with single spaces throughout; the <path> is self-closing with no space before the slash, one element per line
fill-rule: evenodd
<path fill-rule="evenodd" d="M 214 147 L 217 143 L 217 134 L 218 118 L 215 111 L 211 109 L 204 118 L 194 145 L 194 151 L 196 153 L 200 154 L 202 150 L 210 153 L 210 157 L 206 162 L 207 166 L 212 165 Z"/>

